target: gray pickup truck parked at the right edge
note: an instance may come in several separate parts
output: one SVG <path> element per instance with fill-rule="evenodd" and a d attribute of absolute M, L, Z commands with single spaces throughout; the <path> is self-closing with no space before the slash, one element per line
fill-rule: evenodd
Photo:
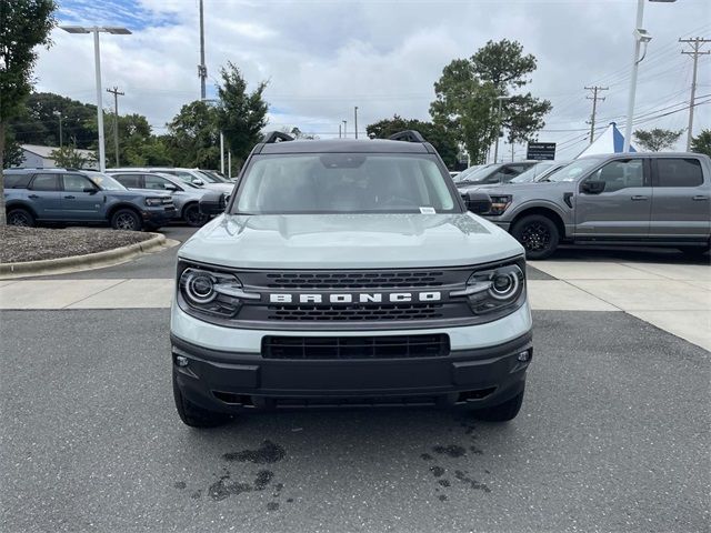
<path fill-rule="evenodd" d="M 581 158 L 543 182 L 489 188 L 491 222 L 550 257 L 561 242 L 709 250 L 711 160 L 698 153 Z"/>

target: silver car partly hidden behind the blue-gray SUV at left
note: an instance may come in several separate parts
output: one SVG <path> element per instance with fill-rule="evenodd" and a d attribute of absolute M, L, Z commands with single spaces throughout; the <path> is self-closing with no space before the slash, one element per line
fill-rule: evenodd
<path fill-rule="evenodd" d="M 159 172 L 140 170 L 107 172 L 127 189 L 148 189 L 169 193 L 176 204 L 177 218 L 188 225 L 197 228 L 208 221 L 208 218 L 200 213 L 199 202 L 209 189 L 187 183 L 176 175 Z"/>

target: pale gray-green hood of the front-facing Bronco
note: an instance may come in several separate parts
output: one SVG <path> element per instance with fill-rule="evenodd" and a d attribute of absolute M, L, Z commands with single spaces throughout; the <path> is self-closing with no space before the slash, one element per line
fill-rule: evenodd
<path fill-rule="evenodd" d="M 505 231 L 471 213 L 223 214 L 179 257 L 242 269 L 461 266 L 520 255 Z"/>

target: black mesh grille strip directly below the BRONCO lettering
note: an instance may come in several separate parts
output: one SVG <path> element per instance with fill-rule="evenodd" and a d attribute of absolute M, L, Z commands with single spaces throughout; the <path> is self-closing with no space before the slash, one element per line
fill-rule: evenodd
<path fill-rule="evenodd" d="M 269 320 L 424 320 L 441 319 L 441 303 L 392 303 L 379 305 L 269 305 Z"/>

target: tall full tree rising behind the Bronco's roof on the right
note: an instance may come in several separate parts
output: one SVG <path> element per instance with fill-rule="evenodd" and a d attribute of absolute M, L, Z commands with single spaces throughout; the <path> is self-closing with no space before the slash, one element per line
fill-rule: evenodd
<path fill-rule="evenodd" d="M 509 142 L 523 142 L 544 125 L 551 103 L 530 92 L 502 100 L 499 117 L 498 97 L 524 87 L 534 70 L 535 58 L 524 56 L 519 42 L 489 41 L 470 59 L 444 67 L 434 83 L 430 114 L 464 144 L 472 163 L 481 163 L 502 128 L 508 129 Z"/>

